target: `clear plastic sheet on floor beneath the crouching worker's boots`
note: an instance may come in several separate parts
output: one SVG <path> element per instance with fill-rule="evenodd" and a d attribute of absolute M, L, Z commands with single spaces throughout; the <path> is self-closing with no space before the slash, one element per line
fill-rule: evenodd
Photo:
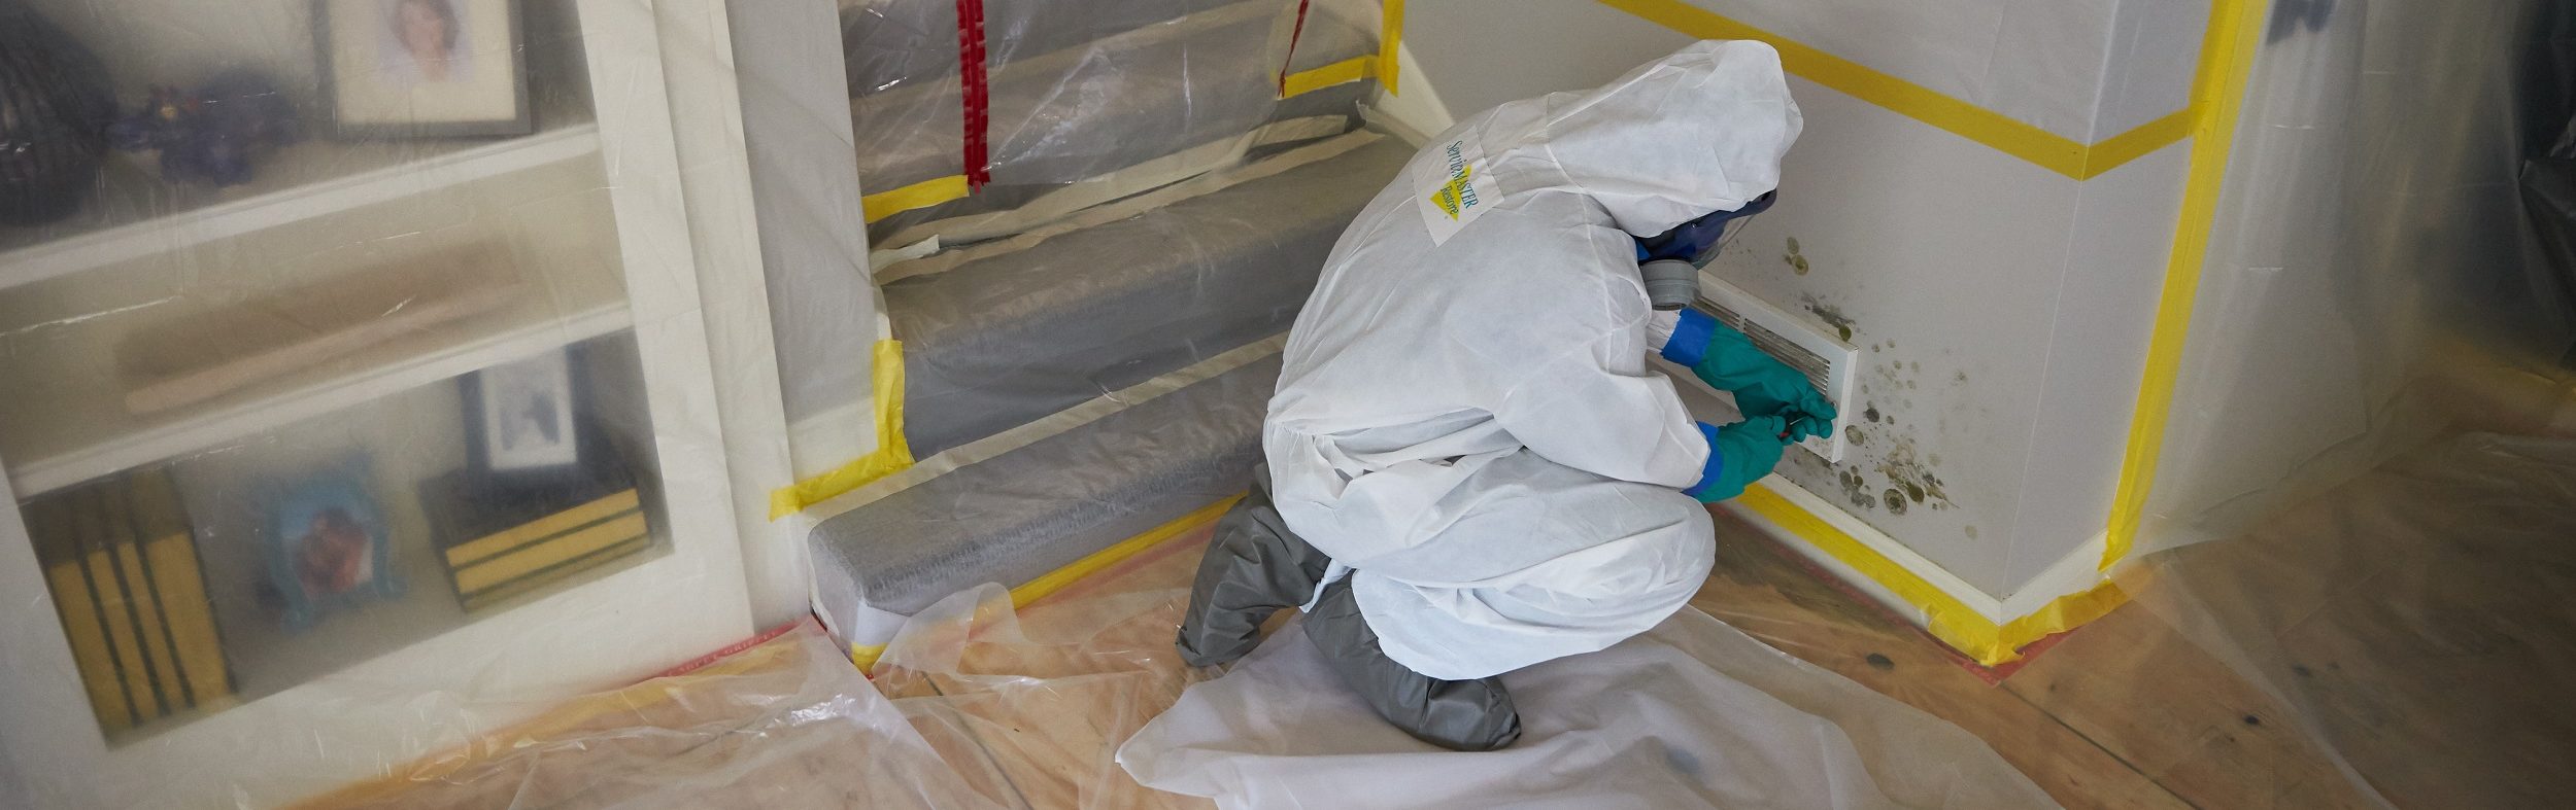
<path fill-rule="evenodd" d="M 2050 807 L 1965 730 L 1698 609 L 1502 676 L 1512 748 L 1455 753 L 1373 717 L 1288 627 L 1118 759 L 1221 807 Z"/>

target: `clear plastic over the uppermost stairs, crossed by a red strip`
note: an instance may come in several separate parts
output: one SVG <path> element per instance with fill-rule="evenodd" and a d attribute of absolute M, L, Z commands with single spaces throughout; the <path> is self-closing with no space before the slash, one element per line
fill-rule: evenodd
<path fill-rule="evenodd" d="M 1342 15 L 1306 15 L 1298 33 L 1293 0 L 1005 0 L 981 13 L 987 98 L 971 100 L 958 3 L 842 8 L 868 193 L 966 172 L 971 103 L 989 116 L 992 183 L 1077 183 L 1270 121 L 1291 36 L 1298 64 L 1376 51 L 1373 33 Z"/>

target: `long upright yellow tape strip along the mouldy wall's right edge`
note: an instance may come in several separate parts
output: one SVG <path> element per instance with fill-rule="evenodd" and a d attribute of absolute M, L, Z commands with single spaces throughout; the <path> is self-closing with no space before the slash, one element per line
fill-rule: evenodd
<path fill-rule="evenodd" d="M 2166 255 L 2164 291 L 2156 293 L 2156 329 L 2146 342 L 2138 409 L 2130 414 L 2128 447 L 2120 458 L 2120 489 L 2110 501 L 2102 571 L 2136 548 L 2146 499 L 2156 489 L 2164 427 L 2174 409 L 2174 386 L 2182 378 L 2182 345 L 2192 332 L 2192 303 L 2200 296 L 2200 270 L 2208 265 L 2210 229 L 2218 226 L 2218 190 L 2226 185 L 2228 154 L 2236 149 L 2236 118 L 2244 108 L 2246 80 L 2254 75 L 2254 31 L 2264 26 L 2264 8 L 2267 3 L 2246 0 L 2210 5 L 2200 72 L 2192 77 L 2192 162 L 2184 170 L 2182 213 L 2174 249 Z"/>

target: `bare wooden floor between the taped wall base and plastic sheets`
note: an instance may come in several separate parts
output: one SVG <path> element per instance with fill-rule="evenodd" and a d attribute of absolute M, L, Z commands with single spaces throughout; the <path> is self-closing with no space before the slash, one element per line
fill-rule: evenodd
<path fill-rule="evenodd" d="M 1721 512 L 1718 537 L 1695 607 L 1958 723 L 2066 807 L 2372 807 L 2262 692 L 2146 609 L 2117 609 L 1989 684 L 1759 530 Z"/>

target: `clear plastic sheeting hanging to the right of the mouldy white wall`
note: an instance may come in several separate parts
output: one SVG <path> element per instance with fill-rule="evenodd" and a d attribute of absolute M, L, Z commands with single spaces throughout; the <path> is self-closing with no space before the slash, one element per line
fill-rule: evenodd
<path fill-rule="evenodd" d="M 2452 427 L 2563 409 L 2576 298 L 2519 183 L 2550 147 L 2524 131 L 2568 121 L 2537 103 L 2563 69 L 2532 64 L 2566 49 L 2563 15 L 2370 3 L 2275 26 L 2141 548 L 2228 537 Z"/>

